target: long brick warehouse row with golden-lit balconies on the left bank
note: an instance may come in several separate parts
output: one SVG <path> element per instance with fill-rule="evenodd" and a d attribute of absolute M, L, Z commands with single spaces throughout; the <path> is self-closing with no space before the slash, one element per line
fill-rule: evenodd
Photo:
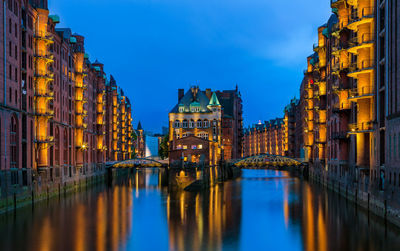
<path fill-rule="evenodd" d="M 7 0 L 0 8 L 2 198 L 24 187 L 73 182 L 102 172 L 106 161 L 130 158 L 130 101 L 103 65 L 89 60 L 84 37 L 57 28 L 47 1 Z"/>

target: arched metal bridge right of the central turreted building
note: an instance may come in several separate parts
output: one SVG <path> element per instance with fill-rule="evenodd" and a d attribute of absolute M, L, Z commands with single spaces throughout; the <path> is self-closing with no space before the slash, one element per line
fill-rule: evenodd
<path fill-rule="evenodd" d="M 250 156 L 234 162 L 238 167 L 297 167 L 301 166 L 302 163 L 296 159 L 272 155 L 262 154 L 257 156 Z"/>

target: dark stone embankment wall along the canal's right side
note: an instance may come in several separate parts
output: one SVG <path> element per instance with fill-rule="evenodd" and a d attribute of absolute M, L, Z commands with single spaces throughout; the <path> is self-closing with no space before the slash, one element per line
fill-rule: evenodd
<path fill-rule="evenodd" d="M 387 222 L 400 227 L 400 205 L 383 191 L 368 188 L 364 184 L 337 181 L 330 179 L 322 172 L 313 168 L 309 169 L 308 177 L 311 181 L 319 183 L 325 188 L 334 191 L 364 208 L 368 213 L 373 213 Z"/>

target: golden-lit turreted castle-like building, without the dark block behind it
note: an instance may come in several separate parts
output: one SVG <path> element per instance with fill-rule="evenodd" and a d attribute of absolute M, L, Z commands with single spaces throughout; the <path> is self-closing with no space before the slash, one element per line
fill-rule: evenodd
<path fill-rule="evenodd" d="M 178 91 L 178 104 L 169 113 L 170 163 L 184 159 L 215 165 L 221 156 L 221 104 L 211 89 Z"/>

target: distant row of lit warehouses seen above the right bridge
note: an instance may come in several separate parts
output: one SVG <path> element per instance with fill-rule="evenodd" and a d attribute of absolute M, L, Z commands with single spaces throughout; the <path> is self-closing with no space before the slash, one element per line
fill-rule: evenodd
<path fill-rule="evenodd" d="M 244 130 L 243 157 L 284 153 L 284 120 L 281 118 L 255 124 Z"/>

